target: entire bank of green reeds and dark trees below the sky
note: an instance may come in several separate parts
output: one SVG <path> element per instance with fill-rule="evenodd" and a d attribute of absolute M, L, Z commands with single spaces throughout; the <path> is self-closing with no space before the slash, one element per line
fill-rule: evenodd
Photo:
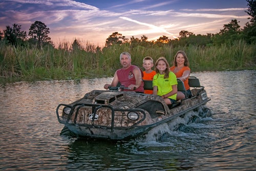
<path fill-rule="evenodd" d="M 256 1 L 247 0 L 251 16 L 243 29 L 232 19 L 217 34 L 195 35 L 182 30 L 178 39 L 161 36 L 156 41 L 114 32 L 104 47 L 75 39 L 60 42 L 55 48 L 48 37 L 49 28 L 35 21 L 30 38 L 21 26 L 7 26 L 0 31 L 0 83 L 46 79 L 79 79 L 113 76 L 120 68 L 119 55 L 129 52 L 132 63 L 142 68 L 142 59 L 155 61 L 163 56 L 172 65 L 177 51 L 186 52 L 192 72 L 256 69 Z"/>

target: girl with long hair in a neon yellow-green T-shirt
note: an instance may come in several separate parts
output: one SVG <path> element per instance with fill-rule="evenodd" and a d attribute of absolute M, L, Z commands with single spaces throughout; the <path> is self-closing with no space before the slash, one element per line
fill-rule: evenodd
<path fill-rule="evenodd" d="M 169 71 L 169 64 L 164 57 L 157 60 L 156 73 L 153 78 L 153 94 L 160 95 L 167 105 L 174 104 L 178 83 L 175 74 Z"/>

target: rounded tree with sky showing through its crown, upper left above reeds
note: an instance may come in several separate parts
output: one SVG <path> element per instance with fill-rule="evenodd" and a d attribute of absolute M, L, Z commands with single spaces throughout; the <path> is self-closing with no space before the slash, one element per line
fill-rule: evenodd
<path fill-rule="evenodd" d="M 42 45 L 44 43 L 47 43 L 49 40 L 51 40 L 51 38 L 48 37 L 49 33 L 50 33 L 49 28 L 47 28 L 45 23 L 41 21 L 35 21 L 29 29 L 29 36 L 38 45 Z"/>

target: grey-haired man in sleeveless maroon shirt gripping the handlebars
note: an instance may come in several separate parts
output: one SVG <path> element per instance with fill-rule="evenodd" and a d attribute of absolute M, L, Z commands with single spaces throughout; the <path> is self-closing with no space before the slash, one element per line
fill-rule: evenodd
<path fill-rule="evenodd" d="M 131 55 L 127 52 L 120 54 L 121 69 L 115 72 L 114 78 L 111 84 L 105 84 L 104 88 L 108 89 L 109 86 L 116 87 L 118 82 L 124 87 L 129 87 L 132 91 L 144 92 L 144 83 L 142 81 L 143 72 L 142 70 L 132 65 Z"/>

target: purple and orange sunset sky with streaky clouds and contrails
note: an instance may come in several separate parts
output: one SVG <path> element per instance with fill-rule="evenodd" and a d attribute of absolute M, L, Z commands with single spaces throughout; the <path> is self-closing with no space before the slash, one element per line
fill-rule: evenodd
<path fill-rule="evenodd" d="M 216 34 L 232 19 L 243 28 L 249 21 L 245 10 L 246 0 L 0 0 L 0 30 L 16 23 L 28 34 L 41 21 L 55 45 L 78 39 L 104 46 L 114 32 L 151 41 L 175 39 L 182 30 Z"/>

